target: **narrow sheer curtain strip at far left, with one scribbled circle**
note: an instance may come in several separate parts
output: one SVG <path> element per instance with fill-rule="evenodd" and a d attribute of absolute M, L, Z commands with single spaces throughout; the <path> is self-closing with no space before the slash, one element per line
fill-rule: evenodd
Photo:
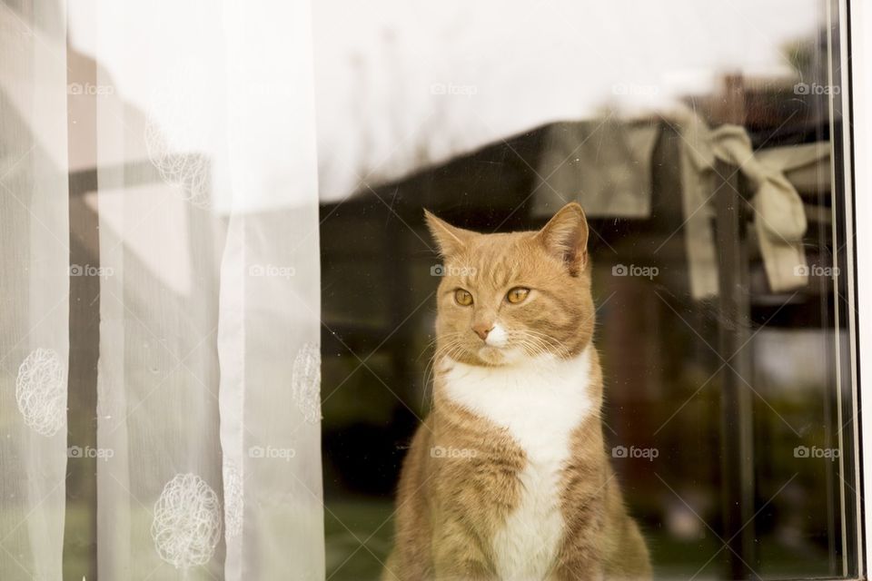
<path fill-rule="evenodd" d="M 65 26 L 0 3 L 0 578 L 60 579 L 69 338 Z"/>

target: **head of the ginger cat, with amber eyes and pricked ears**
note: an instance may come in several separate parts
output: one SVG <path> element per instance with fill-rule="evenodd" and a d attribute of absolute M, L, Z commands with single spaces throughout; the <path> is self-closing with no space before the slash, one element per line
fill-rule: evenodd
<path fill-rule="evenodd" d="M 425 212 L 443 259 L 438 355 L 472 365 L 570 358 L 589 343 L 588 223 L 570 203 L 540 231 L 480 234 Z"/>

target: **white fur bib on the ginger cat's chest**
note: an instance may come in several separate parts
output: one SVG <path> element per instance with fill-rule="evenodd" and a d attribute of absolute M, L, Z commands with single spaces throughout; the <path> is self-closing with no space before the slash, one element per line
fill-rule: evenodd
<path fill-rule="evenodd" d="M 572 431 L 596 411 L 590 366 L 588 348 L 575 359 L 517 367 L 452 362 L 444 376 L 452 400 L 507 428 L 527 455 L 519 506 L 493 540 L 501 579 L 544 579 L 560 549 L 560 472 L 570 457 Z"/>

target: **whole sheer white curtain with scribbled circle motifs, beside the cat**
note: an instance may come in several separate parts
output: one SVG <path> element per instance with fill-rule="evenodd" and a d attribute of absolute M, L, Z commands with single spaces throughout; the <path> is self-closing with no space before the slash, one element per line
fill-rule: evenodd
<path fill-rule="evenodd" d="M 70 419 L 96 430 L 97 576 L 322 578 L 309 5 L 37 4 L 0 9 L 31 31 L 0 53 L 0 175 L 25 159 L 0 192 L 0 578 L 74 570 L 68 164 L 99 224 L 72 273 L 99 277 L 96 405 Z M 92 123 L 69 153 L 67 123 Z"/>

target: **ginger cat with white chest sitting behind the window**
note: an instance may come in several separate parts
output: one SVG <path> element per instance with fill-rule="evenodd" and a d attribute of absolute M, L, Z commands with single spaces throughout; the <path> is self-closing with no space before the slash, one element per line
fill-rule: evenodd
<path fill-rule="evenodd" d="M 606 456 L 588 225 L 479 234 L 426 212 L 445 261 L 431 415 L 384 580 L 649 579 Z"/>

